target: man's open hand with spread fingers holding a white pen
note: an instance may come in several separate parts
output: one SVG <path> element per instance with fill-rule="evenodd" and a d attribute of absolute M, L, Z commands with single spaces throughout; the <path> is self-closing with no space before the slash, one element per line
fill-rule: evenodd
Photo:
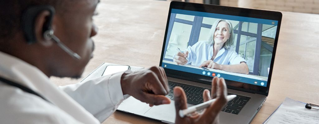
<path fill-rule="evenodd" d="M 207 89 L 204 90 L 204 102 L 216 98 L 214 103 L 204 110 L 202 114 L 195 112 L 193 116 L 179 116 L 179 110 L 187 108 L 185 92 L 180 87 L 174 88 L 176 124 L 212 124 L 219 123 L 219 112 L 226 105 L 227 88 L 223 78 L 214 77 L 211 82 L 211 95 Z"/>

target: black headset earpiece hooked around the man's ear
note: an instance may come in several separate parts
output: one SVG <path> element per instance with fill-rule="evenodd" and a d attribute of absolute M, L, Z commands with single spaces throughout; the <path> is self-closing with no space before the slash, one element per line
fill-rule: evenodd
<path fill-rule="evenodd" d="M 37 42 L 34 29 L 35 19 L 41 12 L 45 10 L 49 11 L 50 15 L 47 17 L 47 21 L 43 24 L 43 36 L 45 39 L 49 39 L 49 37 L 52 38 L 53 30 L 51 29 L 51 24 L 55 14 L 55 9 L 49 5 L 33 6 L 26 9 L 21 19 L 21 27 L 28 44 Z"/>

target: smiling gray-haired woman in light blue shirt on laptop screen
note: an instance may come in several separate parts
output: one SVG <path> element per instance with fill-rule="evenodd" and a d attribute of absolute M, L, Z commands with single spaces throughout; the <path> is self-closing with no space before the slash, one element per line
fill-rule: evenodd
<path fill-rule="evenodd" d="M 187 50 L 177 52 L 174 62 L 178 65 L 191 63 L 198 67 L 219 69 L 227 72 L 249 74 L 245 59 L 233 49 L 233 26 L 228 20 L 219 19 L 211 27 L 207 41 L 199 41 Z"/>

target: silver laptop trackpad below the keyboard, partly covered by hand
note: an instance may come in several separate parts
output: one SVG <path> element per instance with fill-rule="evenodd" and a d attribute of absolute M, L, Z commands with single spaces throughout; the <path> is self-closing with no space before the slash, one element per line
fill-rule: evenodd
<path fill-rule="evenodd" d="M 188 107 L 192 105 L 187 105 Z M 165 104 L 165 105 L 159 105 L 159 106 L 153 106 L 151 109 L 149 109 L 145 115 L 151 116 L 155 119 L 164 120 L 168 122 L 175 122 L 175 103 L 174 101 L 171 101 L 171 104 Z"/>

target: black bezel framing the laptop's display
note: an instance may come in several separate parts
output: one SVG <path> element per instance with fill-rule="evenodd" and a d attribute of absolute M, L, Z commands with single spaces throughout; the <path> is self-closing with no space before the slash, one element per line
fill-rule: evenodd
<path fill-rule="evenodd" d="M 166 41 L 167 41 L 167 33 L 168 33 L 168 27 L 169 27 L 169 21 L 170 21 L 172 9 L 217 13 L 217 14 L 225 14 L 225 15 L 233 15 L 233 16 L 244 16 L 244 17 L 268 19 L 268 20 L 277 20 L 278 21 L 277 32 L 276 32 L 276 36 L 275 36 L 274 49 L 273 49 L 272 57 L 271 57 L 271 64 L 270 64 L 267 86 L 263 87 L 263 86 L 254 86 L 253 84 L 249 84 L 253 87 L 259 88 L 259 90 L 252 90 L 252 89 L 239 88 L 239 87 L 227 85 L 227 88 L 230 88 L 230 89 L 268 96 L 270 83 L 271 83 L 271 75 L 272 75 L 273 65 L 274 65 L 274 60 L 275 60 L 275 55 L 276 55 L 278 36 L 279 36 L 279 31 L 280 31 L 280 24 L 281 24 L 281 19 L 282 19 L 281 12 L 172 1 L 170 3 L 169 12 L 168 12 L 168 16 L 167 16 L 167 25 L 166 25 L 166 30 L 165 30 L 165 36 L 164 36 L 164 42 L 163 42 L 159 66 L 162 66 L 164 51 L 166 50 L 165 45 L 166 45 Z M 208 85 L 211 84 L 212 77 L 209 77 L 209 76 L 188 73 L 188 72 L 182 72 L 182 71 L 178 71 L 178 70 L 174 70 L 174 69 L 167 69 L 167 68 L 164 68 L 164 69 L 165 69 L 167 76 L 169 76 L 169 77 L 179 78 L 179 79 L 183 79 L 183 80 L 189 80 L 189 81 L 193 81 L 193 82 L 204 83 L 204 84 L 208 84 Z M 189 78 L 189 77 L 194 77 L 194 78 Z M 226 83 L 227 82 L 229 82 L 229 81 L 226 80 Z M 239 82 L 239 83 L 242 83 L 242 82 Z"/>

